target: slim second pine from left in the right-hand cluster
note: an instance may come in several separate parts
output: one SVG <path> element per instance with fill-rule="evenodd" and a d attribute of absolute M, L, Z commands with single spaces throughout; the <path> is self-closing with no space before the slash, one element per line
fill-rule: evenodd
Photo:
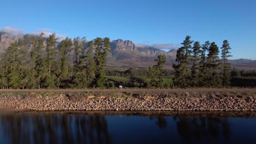
<path fill-rule="evenodd" d="M 197 87 L 199 86 L 199 65 L 198 61 L 200 61 L 200 53 L 201 53 L 201 46 L 199 41 L 196 41 L 193 46 L 193 56 L 192 56 L 192 61 L 193 65 L 191 68 L 191 86 Z"/>

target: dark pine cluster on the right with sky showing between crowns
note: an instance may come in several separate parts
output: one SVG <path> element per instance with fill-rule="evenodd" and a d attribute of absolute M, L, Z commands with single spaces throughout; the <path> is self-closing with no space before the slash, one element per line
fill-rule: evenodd
<path fill-rule="evenodd" d="M 219 47 L 216 43 L 190 40 L 187 36 L 177 50 L 174 83 L 177 87 L 228 87 L 230 86 L 231 57 L 228 40 L 223 41 L 219 58 Z M 192 45 L 193 44 L 193 45 Z"/>

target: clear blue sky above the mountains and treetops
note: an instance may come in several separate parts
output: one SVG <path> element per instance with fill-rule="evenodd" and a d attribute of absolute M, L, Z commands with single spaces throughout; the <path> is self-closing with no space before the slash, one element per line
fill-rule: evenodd
<path fill-rule="evenodd" d="M 129 39 L 177 47 L 186 35 L 219 47 L 229 40 L 232 59 L 256 59 L 255 0 L 2 1 L 0 29 L 54 32 L 71 38 Z"/>

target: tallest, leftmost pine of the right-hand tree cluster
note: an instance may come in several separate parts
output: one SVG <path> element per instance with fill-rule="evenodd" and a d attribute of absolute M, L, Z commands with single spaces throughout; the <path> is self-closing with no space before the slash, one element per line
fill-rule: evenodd
<path fill-rule="evenodd" d="M 191 70 L 189 69 L 189 59 L 191 57 L 191 44 L 190 36 L 187 36 L 183 43 L 183 46 L 177 50 L 176 62 L 179 64 L 173 64 L 175 70 L 174 83 L 175 85 L 186 88 L 190 85 Z"/>

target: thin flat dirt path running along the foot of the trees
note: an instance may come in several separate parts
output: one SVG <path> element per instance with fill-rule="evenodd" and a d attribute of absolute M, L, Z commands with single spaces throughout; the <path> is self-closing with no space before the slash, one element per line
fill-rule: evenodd
<path fill-rule="evenodd" d="M 0 92 L 121 92 L 120 89 L 0 89 Z M 123 92 L 256 92 L 256 88 L 131 89 Z"/>

